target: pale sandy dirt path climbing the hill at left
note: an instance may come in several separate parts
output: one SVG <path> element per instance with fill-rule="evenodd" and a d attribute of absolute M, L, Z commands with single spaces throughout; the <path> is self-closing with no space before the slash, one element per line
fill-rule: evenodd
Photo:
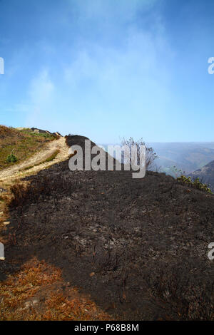
<path fill-rule="evenodd" d="M 44 162 L 46 158 L 49 158 L 56 150 L 60 150 L 58 155 L 54 160 L 50 162 Z M 10 185 L 11 182 L 15 179 L 25 177 L 27 175 L 35 174 L 40 170 L 44 170 L 49 166 L 62 162 L 68 158 L 68 146 L 66 145 L 66 139 L 61 137 L 58 140 L 49 142 L 45 148 L 43 148 L 39 153 L 33 155 L 29 160 L 25 160 L 22 163 L 11 166 L 0 171 L 0 187 L 5 185 Z M 41 164 L 40 164 L 41 163 Z M 38 165 L 39 164 L 39 165 Z M 33 168 L 30 168 L 30 167 Z M 25 170 L 29 168 L 28 170 Z"/>

